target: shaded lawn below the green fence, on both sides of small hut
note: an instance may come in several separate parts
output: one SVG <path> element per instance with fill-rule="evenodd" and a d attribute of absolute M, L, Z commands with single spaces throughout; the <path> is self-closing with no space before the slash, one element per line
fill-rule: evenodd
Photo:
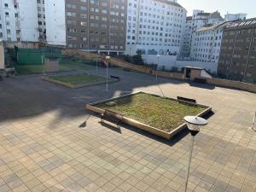
<path fill-rule="evenodd" d="M 59 65 L 60 72 L 88 70 L 96 66 L 95 61 L 74 60 L 72 58 L 63 58 Z M 44 73 L 44 65 L 19 65 L 15 64 L 15 72 L 17 75 Z"/>

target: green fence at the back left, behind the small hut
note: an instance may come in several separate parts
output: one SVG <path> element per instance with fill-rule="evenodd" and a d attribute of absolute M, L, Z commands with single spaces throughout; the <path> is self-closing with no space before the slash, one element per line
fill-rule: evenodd
<path fill-rule="evenodd" d="M 61 61 L 60 49 L 17 49 L 17 62 L 20 65 L 43 65 L 45 56 L 57 56 Z"/>

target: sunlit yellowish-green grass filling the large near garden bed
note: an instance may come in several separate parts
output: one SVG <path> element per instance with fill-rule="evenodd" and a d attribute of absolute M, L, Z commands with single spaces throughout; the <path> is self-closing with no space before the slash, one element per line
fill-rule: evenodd
<path fill-rule="evenodd" d="M 109 109 L 166 132 L 182 125 L 185 116 L 197 115 L 206 109 L 143 93 L 113 100 L 113 102 L 116 103 L 114 107 L 104 103 L 96 105 L 96 108 Z"/>

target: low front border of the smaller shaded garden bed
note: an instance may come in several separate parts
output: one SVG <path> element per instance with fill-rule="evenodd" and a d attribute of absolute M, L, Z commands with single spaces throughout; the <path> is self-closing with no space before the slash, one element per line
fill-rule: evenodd
<path fill-rule="evenodd" d="M 95 82 L 95 83 L 87 83 L 87 84 L 67 84 L 65 82 L 59 81 L 59 80 L 55 80 L 55 79 L 50 79 L 48 77 L 43 77 L 42 80 L 45 81 L 49 81 L 51 83 L 54 84 L 61 84 L 63 86 L 66 86 L 68 88 L 72 88 L 72 89 L 78 89 L 78 88 L 82 88 L 82 87 L 89 87 L 89 86 L 96 86 L 96 85 L 100 85 L 100 84 L 106 84 L 106 81 L 101 81 L 101 82 Z M 119 79 L 108 79 L 108 84 L 112 84 L 115 82 L 118 82 Z"/>

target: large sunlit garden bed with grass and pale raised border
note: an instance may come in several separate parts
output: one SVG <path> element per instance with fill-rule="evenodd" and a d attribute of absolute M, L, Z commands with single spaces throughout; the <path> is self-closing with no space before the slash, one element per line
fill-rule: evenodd
<path fill-rule="evenodd" d="M 110 106 L 109 102 L 114 105 Z M 96 113 L 103 113 L 105 109 L 119 113 L 124 123 L 166 138 L 186 127 L 185 116 L 203 116 L 211 111 L 207 106 L 143 92 L 92 103 L 87 108 Z"/>

